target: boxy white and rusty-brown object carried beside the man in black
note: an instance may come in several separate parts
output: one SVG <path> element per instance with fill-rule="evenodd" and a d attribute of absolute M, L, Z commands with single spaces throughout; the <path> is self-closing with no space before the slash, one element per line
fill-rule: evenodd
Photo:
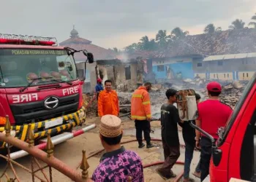
<path fill-rule="evenodd" d="M 176 95 L 178 115 L 181 121 L 192 121 L 197 119 L 197 101 L 195 90 L 179 90 Z"/>

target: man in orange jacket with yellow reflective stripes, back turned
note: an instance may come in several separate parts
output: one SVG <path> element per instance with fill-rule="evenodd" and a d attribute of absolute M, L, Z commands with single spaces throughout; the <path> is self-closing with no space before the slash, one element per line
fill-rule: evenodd
<path fill-rule="evenodd" d="M 154 147 L 150 138 L 150 121 L 151 121 L 151 105 L 148 91 L 151 90 L 151 83 L 146 82 L 144 86 L 135 90 L 132 94 L 131 101 L 131 118 L 135 120 L 136 138 L 139 148 L 143 148 L 145 144 L 142 142 L 142 132 L 146 140 L 147 148 Z"/>

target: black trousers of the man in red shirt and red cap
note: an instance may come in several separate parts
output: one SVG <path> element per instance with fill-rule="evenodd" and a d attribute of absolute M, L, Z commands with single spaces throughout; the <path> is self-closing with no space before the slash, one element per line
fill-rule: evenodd
<path fill-rule="evenodd" d="M 201 177 L 200 180 L 203 181 L 209 174 L 210 161 L 211 161 L 211 141 L 206 137 L 202 137 L 200 142 L 201 154 L 200 154 L 200 167 L 201 167 Z"/>

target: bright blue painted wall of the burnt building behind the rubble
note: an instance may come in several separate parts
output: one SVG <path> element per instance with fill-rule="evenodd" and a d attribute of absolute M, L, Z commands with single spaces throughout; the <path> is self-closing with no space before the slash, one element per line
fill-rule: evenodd
<path fill-rule="evenodd" d="M 176 76 L 179 72 L 181 72 L 183 79 L 193 79 L 194 71 L 192 69 L 192 62 L 185 63 L 172 63 L 172 64 L 164 64 L 164 71 L 157 71 L 157 66 L 153 66 L 154 74 L 156 74 L 157 79 L 165 79 L 167 78 L 167 66 L 173 70 L 173 74 Z"/>

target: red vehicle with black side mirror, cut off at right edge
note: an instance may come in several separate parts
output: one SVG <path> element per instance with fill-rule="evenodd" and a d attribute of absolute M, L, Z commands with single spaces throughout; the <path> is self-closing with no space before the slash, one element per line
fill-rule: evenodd
<path fill-rule="evenodd" d="M 237 178 L 256 181 L 256 73 L 244 90 L 225 128 L 219 130 L 219 140 L 211 135 L 212 157 L 209 180 L 230 181 Z M 197 130 L 195 125 L 193 125 Z M 204 132 L 200 130 L 200 132 Z M 204 134 L 207 135 L 206 132 Z M 207 181 L 207 178 L 206 178 Z"/>

